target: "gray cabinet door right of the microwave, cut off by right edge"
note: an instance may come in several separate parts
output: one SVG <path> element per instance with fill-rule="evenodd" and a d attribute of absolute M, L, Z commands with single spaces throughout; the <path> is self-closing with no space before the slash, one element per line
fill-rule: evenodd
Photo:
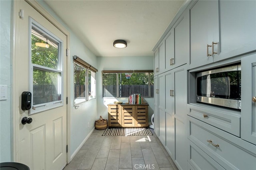
<path fill-rule="evenodd" d="M 256 144 L 256 54 L 241 61 L 241 138 Z"/>

